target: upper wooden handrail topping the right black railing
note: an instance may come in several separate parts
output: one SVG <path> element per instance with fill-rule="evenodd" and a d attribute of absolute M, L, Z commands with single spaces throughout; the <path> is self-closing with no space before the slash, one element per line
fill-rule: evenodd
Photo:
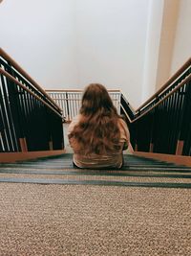
<path fill-rule="evenodd" d="M 180 69 L 168 81 L 166 81 L 153 96 L 151 96 L 144 104 L 138 107 L 136 112 L 138 112 L 138 110 L 140 110 L 143 106 L 148 105 L 152 100 L 154 100 L 160 94 L 160 92 L 162 92 L 173 81 L 175 81 L 180 76 L 180 74 L 189 67 L 190 64 L 191 58 L 188 58 L 188 60 L 180 67 Z"/>

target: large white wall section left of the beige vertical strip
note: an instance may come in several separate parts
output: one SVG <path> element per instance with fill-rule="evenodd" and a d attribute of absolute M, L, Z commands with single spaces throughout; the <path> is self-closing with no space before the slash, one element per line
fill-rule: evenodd
<path fill-rule="evenodd" d="M 137 107 L 149 1 L 4 0 L 0 46 L 43 88 L 102 82 Z"/>

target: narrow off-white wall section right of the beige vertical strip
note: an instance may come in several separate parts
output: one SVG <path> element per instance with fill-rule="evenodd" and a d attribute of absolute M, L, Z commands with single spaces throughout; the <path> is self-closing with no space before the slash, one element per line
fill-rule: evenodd
<path fill-rule="evenodd" d="M 171 75 L 191 57 L 191 1 L 180 0 L 180 13 L 175 38 Z"/>

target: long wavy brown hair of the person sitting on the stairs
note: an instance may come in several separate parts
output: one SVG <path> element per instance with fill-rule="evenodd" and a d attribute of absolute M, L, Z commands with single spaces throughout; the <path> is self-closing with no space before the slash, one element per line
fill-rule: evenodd
<path fill-rule="evenodd" d="M 102 84 L 86 87 L 79 113 L 79 121 L 69 135 L 74 151 L 102 154 L 120 149 L 120 116 Z"/>

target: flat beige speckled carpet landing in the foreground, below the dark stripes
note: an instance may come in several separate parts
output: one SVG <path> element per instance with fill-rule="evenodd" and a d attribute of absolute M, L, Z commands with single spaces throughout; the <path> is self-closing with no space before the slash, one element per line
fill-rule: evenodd
<path fill-rule="evenodd" d="M 191 190 L 0 183 L 0 256 L 189 256 Z"/>

